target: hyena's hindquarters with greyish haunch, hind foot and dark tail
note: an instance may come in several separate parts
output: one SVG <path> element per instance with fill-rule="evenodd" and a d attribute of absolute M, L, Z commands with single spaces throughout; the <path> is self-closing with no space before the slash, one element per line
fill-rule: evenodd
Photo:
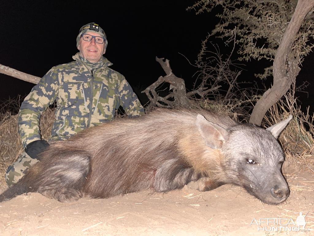
<path fill-rule="evenodd" d="M 78 200 L 83 196 L 81 190 L 90 165 L 90 155 L 86 152 L 49 148 L 40 162 L 0 195 L 0 202 L 28 192 L 37 192 L 60 202 Z"/>

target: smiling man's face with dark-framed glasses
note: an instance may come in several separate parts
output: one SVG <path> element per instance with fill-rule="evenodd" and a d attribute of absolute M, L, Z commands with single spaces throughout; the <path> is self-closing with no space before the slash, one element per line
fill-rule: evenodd
<path fill-rule="evenodd" d="M 87 32 L 87 34 L 92 36 L 100 36 L 96 32 Z M 101 36 L 100 36 L 101 37 Z M 105 44 L 99 44 L 95 42 L 95 38 L 91 41 L 84 41 L 81 37 L 78 44 L 78 50 L 81 57 L 87 59 L 89 62 L 98 62 L 101 56 L 105 53 Z"/>

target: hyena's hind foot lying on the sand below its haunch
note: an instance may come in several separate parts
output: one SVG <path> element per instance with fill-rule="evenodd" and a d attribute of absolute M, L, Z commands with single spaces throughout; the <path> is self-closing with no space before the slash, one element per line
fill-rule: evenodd
<path fill-rule="evenodd" d="M 39 193 L 48 198 L 56 199 L 59 202 L 73 202 L 83 197 L 82 192 L 74 188 L 50 188 L 39 191 Z"/>

